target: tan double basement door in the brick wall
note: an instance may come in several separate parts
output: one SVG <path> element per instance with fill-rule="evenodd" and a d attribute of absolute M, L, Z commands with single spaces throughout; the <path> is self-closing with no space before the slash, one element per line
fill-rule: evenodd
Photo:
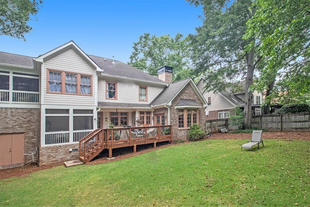
<path fill-rule="evenodd" d="M 25 134 L 0 134 L 0 169 L 24 165 Z"/>

